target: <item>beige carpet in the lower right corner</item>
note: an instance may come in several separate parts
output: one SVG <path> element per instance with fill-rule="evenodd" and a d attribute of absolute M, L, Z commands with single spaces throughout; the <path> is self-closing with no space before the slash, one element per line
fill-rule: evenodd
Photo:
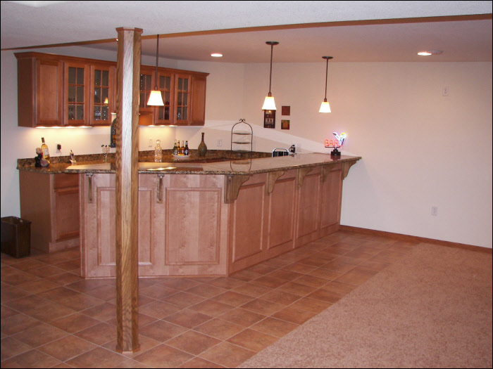
<path fill-rule="evenodd" d="M 239 368 L 492 368 L 492 254 L 417 245 Z"/>

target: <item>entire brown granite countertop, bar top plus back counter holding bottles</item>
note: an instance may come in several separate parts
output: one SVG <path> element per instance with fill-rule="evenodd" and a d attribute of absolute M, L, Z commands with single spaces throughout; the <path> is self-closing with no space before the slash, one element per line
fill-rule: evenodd
<path fill-rule="evenodd" d="M 176 160 L 173 155 L 163 155 L 163 162 L 154 162 L 154 157 L 139 153 L 139 173 L 156 174 L 258 174 L 268 171 L 288 170 L 301 167 L 316 167 L 323 164 L 336 164 L 338 162 L 354 162 L 360 160 L 359 156 L 342 155 L 332 157 L 329 154 L 297 154 L 280 157 L 270 157 L 270 153 L 256 153 L 251 159 L 240 159 L 230 157 L 231 153 L 220 150 L 209 153 L 206 157 L 190 155 L 188 160 Z M 151 152 L 149 152 L 151 154 Z M 154 154 L 154 153 L 153 153 Z M 102 154 L 85 155 L 86 160 L 76 157 L 77 164 L 71 165 L 65 160 L 51 160 L 48 167 L 34 167 L 30 162 L 18 160 L 18 169 L 27 171 L 37 171 L 47 174 L 58 173 L 115 173 L 114 157 L 110 154 L 108 162 L 104 162 Z M 264 157 L 261 157 L 261 156 Z M 268 157 L 266 155 L 269 155 Z M 165 161 L 169 160 L 169 161 Z M 224 161 L 218 161 L 224 160 Z M 34 160 L 33 160 L 34 161 Z M 67 157 L 68 161 L 68 157 Z"/>

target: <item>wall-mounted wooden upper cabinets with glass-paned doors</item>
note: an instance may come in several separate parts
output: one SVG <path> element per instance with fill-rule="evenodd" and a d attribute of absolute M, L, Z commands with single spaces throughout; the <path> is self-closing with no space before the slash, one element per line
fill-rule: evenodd
<path fill-rule="evenodd" d="M 116 63 L 44 53 L 15 53 L 18 126 L 110 126 L 116 111 Z M 148 106 L 156 68 L 141 66 L 139 124 L 201 126 L 208 73 L 158 68 L 163 107 Z"/>

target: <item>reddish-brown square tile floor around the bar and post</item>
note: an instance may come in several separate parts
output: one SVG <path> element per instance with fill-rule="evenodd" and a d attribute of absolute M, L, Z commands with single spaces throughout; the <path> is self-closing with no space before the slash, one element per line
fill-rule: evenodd
<path fill-rule="evenodd" d="M 80 278 L 76 249 L 1 254 L 1 368 L 235 368 L 414 245 L 339 231 L 230 277 L 139 278 L 125 355 L 114 278 Z"/>

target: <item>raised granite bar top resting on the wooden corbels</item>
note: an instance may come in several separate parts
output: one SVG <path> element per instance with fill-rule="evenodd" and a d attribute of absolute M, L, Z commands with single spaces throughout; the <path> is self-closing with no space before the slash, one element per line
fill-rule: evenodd
<path fill-rule="evenodd" d="M 280 157 L 231 160 L 224 162 L 139 162 L 139 173 L 156 174 L 258 174 L 268 171 L 316 167 L 338 162 L 356 162 L 359 156 L 331 157 L 328 154 L 298 154 Z M 115 164 L 87 163 L 70 165 L 64 173 L 115 173 Z"/>

